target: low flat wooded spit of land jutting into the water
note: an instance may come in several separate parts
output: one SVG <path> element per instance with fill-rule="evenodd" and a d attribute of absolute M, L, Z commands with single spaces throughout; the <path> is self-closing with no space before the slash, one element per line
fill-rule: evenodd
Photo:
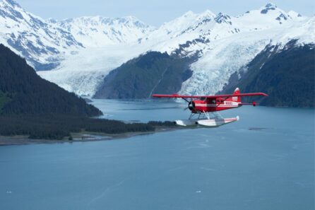
<path fill-rule="evenodd" d="M 5 124 L 5 125 L 4 125 Z M 0 146 L 105 141 L 180 129 L 173 122 L 125 123 L 87 117 L 0 117 Z"/>

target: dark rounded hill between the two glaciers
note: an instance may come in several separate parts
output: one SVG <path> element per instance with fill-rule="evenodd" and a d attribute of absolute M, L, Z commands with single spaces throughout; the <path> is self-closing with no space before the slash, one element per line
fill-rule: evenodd
<path fill-rule="evenodd" d="M 148 52 L 111 71 L 94 98 L 150 98 L 153 93 L 177 93 L 191 77 L 196 57 Z"/>

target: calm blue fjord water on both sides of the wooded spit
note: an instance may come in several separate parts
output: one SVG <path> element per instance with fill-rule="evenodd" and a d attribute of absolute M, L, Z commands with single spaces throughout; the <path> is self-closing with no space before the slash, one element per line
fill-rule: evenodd
<path fill-rule="evenodd" d="M 185 119 L 184 105 L 95 100 L 110 119 Z M 314 109 L 114 141 L 0 147 L 0 209 L 314 209 Z"/>

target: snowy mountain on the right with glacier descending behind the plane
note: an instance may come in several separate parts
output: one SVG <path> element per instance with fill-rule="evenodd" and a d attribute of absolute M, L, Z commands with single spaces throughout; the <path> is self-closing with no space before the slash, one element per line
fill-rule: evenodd
<path fill-rule="evenodd" d="M 141 45 L 182 57 L 198 55 L 191 63 L 192 76 L 182 83 L 179 92 L 215 94 L 222 91 L 232 74 L 246 72 L 246 64 L 267 45 L 277 45 L 281 50 L 292 40 L 297 40 L 296 45 L 314 43 L 314 21 L 314 17 L 286 13 L 275 4 L 236 17 L 190 11 L 150 33 Z"/>

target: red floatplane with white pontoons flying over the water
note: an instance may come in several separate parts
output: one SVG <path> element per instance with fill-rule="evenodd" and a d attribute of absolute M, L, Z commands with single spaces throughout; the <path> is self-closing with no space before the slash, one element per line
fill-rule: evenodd
<path fill-rule="evenodd" d="M 245 96 L 268 96 L 266 93 L 240 93 L 236 88 L 233 94 L 227 95 L 161 95 L 153 94 L 155 98 L 182 98 L 188 103 L 191 111 L 189 119 L 179 119 L 175 124 L 181 126 L 196 126 L 200 124 L 205 127 L 219 127 L 223 124 L 239 120 L 239 116 L 223 118 L 218 112 L 241 107 L 242 105 L 253 105 L 256 103 L 242 103 L 241 98 Z M 190 100 L 189 100 L 190 99 Z"/>

